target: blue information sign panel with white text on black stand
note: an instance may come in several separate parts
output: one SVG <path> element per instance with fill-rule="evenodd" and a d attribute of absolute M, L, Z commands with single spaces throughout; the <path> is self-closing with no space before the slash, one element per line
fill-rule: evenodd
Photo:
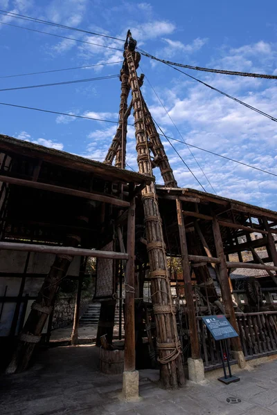
<path fill-rule="evenodd" d="M 207 315 L 202 317 L 202 320 L 215 340 L 238 337 L 238 333 L 233 329 L 225 315 Z"/>

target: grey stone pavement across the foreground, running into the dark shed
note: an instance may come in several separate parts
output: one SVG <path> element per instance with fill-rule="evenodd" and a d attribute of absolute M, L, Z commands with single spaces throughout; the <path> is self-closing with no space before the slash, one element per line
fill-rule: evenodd
<path fill-rule="evenodd" d="M 238 383 L 227 386 L 212 379 L 176 391 L 152 382 L 153 371 L 141 371 L 141 400 L 135 403 L 120 400 L 121 375 L 107 376 L 97 367 L 98 349 L 92 345 L 40 350 L 24 374 L 0 376 L 0 414 L 277 414 L 277 360 L 236 372 Z"/>

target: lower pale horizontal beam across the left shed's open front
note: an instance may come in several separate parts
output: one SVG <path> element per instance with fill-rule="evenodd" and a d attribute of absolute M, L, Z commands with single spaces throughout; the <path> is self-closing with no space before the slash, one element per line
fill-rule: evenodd
<path fill-rule="evenodd" d="M 93 258 L 128 259 L 129 255 L 123 252 L 91 250 L 84 248 L 73 248 L 72 246 L 48 246 L 33 245 L 31 243 L 0 242 L 0 250 L 18 250 L 24 252 L 42 252 L 42 254 L 60 254 L 71 256 L 84 256 Z"/>

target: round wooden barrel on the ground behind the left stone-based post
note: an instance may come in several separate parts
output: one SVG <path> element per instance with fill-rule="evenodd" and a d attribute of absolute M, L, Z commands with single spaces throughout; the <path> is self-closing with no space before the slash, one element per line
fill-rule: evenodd
<path fill-rule="evenodd" d="M 103 374 L 123 374 L 124 350 L 105 350 L 100 347 L 99 360 L 100 371 Z"/>

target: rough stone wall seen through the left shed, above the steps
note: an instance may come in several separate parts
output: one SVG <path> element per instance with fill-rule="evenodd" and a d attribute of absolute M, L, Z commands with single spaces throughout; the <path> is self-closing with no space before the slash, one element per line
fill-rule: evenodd
<path fill-rule="evenodd" d="M 91 302 L 91 295 L 84 293 L 81 297 L 80 304 L 80 317 L 87 308 L 87 304 Z M 75 294 L 60 294 L 59 298 L 55 302 L 52 330 L 60 329 L 61 327 L 68 326 L 73 323 L 75 310 Z"/>

